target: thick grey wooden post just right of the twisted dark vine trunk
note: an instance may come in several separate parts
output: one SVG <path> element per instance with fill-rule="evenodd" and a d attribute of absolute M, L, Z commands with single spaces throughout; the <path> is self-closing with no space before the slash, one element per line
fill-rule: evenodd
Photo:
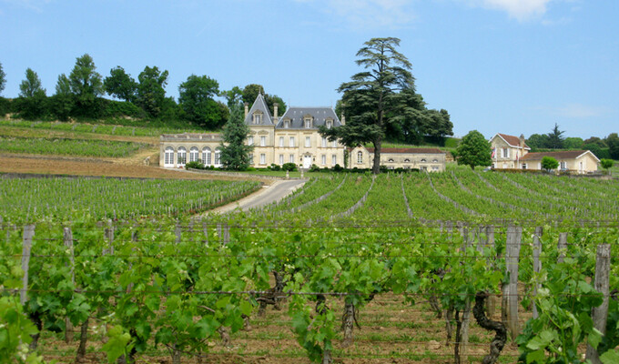
<path fill-rule="evenodd" d="M 518 324 L 518 261 L 523 227 L 507 227 L 505 241 L 505 270 L 509 282 L 503 287 L 502 317 L 510 337 L 515 340 L 520 333 Z"/>

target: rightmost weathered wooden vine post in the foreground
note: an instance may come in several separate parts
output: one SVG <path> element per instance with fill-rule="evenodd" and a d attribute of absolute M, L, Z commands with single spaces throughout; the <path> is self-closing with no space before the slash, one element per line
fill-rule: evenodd
<path fill-rule="evenodd" d="M 595 258 L 594 288 L 604 295 L 604 301 L 602 305 L 592 308 L 591 319 L 594 320 L 594 328 L 598 329 L 602 335 L 606 333 L 606 319 L 608 318 L 610 269 L 611 245 L 600 244 L 597 246 L 597 257 Z M 587 345 L 586 359 L 591 360 L 593 364 L 602 363 L 597 350 L 590 345 Z"/>

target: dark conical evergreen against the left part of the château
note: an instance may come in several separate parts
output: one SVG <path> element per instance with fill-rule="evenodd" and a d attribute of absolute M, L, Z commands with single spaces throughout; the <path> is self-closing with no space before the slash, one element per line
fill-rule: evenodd
<path fill-rule="evenodd" d="M 225 144 L 221 146 L 221 164 L 225 168 L 244 170 L 249 167 L 249 153 L 254 147 L 245 145 L 248 135 L 249 126 L 243 119 L 243 110 L 238 105 L 233 106 L 223 128 Z"/>

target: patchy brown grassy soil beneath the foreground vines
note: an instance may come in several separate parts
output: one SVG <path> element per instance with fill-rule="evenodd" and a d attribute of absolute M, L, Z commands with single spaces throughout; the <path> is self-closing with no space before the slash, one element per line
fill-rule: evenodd
<path fill-rule="evenodd" d="M 343 303 L 338 298 L 328 299 L 328 305 L 339 313 L 343 312 Z M 527 315 L 528 317 L 528 315 Z M 500 320 L 499 315 L 493 319 Z M 264 317 L 254 315 L 251 329 L 241 330 L 231 335 L 231 348 L 221 345 L 217 335 L 209 339 L 201 358 L 186 354 L 183 363 L 249 363 L 249 364 L 309 364 L 306 352 L 296 340 L 288 316 L 288 307 L 281 310 L 267 309 Z M 360 309 L 358 318 L 361 329 L 354 328 L 354 343 L 342 349 L 341 333 L 334 342 L 333 362 L 340 364 L 404 364 L 404 363 L 441 363 L 453 362 L 453 345 L 446 344 L 444 321 L 437 319 L 430 306 L 425 302 L 406 305 L 402 297 L 392 294 L 377 296 L 366 307 Z M 521 318 L 521 323 L 525 321 Z M 338 328 L 339 329 L 339 328 Z M 76 339 L 78 333 L 76 332 Z M 480 328 L 472 319 L 470 329 L 469 359 L 481 362 L 490 348 L 493 333 Z M 67 345 L 60 336 L 47 333 L 41 343 L 40 352 L 45 359 L 56 359 L 58 363 L 75 362 L 77 342 Z M 106 355 L 100 352 L 100 334 L 91 333 L 86 362 L 107 362 Z M 509 342 L 502 350 L 499 362 L 515 362 L 517 347 Z M 201 359 L 201 361 L 200 361 Z M 171 363 L 167 351 L 156 351 L 137 358 L 138 363 Z"/>

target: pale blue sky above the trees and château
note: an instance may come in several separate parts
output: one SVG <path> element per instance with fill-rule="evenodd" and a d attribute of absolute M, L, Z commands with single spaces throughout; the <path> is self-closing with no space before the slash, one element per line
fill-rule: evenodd
<path fill-rule="evenodd" d="M 417 91 L 456 136 L 619 131 L 617 0 L 0 0 L 2 96 L 31 67 L 47 95 L 76 57 L 108 76 L 169 71 L 258 83 L 289 106 L 334 106 L 372 37 L 401 38 Z"/>

